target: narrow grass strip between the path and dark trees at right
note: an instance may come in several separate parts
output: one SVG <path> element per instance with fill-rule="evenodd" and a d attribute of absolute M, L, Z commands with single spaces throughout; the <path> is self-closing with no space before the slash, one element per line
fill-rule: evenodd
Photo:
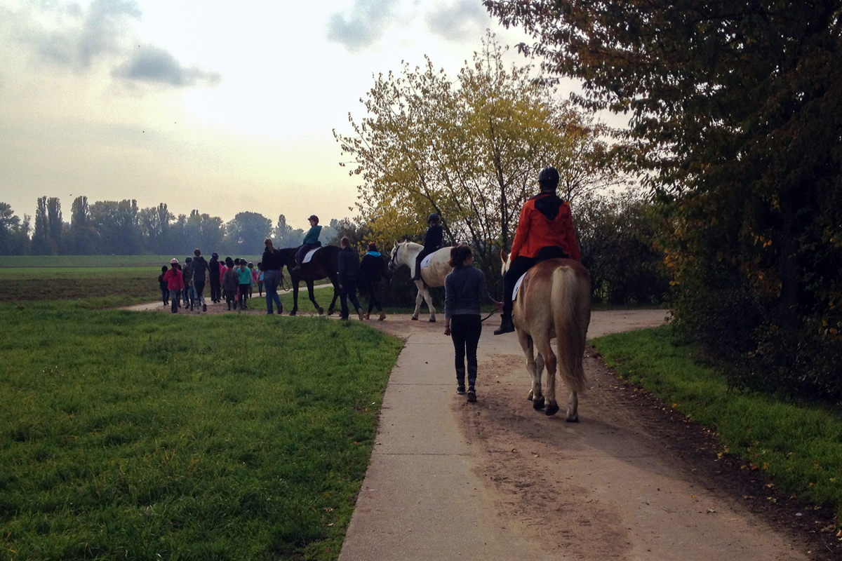
<path fill-rule="evenodd" d="M 842 515 L 842 413 L 728 389 L 668 325 L 593 341 L 621 377 L 719 433 L 723 452 L 764 470 L 781 490 Z"/>

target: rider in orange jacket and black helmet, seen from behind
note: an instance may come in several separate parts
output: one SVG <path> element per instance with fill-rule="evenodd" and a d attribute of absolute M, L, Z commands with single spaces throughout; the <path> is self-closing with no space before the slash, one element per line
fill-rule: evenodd
<path fill-rule="evenodd" d="M 518 279 L 536 263 L 557 257 L 581 261 L 570 205 L 556 194 L 558 170 L 545 167 L 538 174 L 541 193 L 520 209 L 512 242 L 509 270 L 503 277 L 503 315 L 494 335 L 514 331 L 512 292 Z"/>

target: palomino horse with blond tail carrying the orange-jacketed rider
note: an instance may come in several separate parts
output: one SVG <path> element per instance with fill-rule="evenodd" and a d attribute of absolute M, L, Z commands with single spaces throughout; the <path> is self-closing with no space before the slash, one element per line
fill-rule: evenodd
<path fill-rule="evenodd" d="M 509 269 L 509 255 L 500 252 L 503 272 Z M 578 395 L 584 390 L 584 347 L 590 324 L 590 273 L 573 259 L 547 259 L 524 275 L 512 310 L 514 329 L 526 355 L 526 370 L 532 388 L 526 398 L 546 415 L 558 411 L 556 366 L 570 390 L 567 420 L 578 421 Z M 556 339 L 557 354 L 550 341 Z M 538 350 L 537 360 L 534 349 Z M 541 394 L 541 373 L 546 365 L 546 394 Z"/>

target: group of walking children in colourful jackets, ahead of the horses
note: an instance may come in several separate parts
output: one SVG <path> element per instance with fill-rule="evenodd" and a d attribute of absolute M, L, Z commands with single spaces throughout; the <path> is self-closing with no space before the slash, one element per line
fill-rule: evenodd
<path fill-rule="evenodd" d="M 207 263 L 198 249 L 195 256 L 195 259 L 187 257 L 184 264 L 173 258 L 169 268 L 161 267 L 158 285 L 161 288 L 163 305 L 171 306 L 170 311 L 173 314 L 177 314 L 182 305 L 191 311 L 207 311 L 203 294 L 206 279 L 210 279 L 211 301 L 218 303 L 224 297 L 228 310 L 237 310 L 237 306 L 241 310 L 248 310 L 246 300 L 252 297 L 255 284 L 258 286 L 258 294 L 263 296 L 264 279 L 260 263 L 255 268 L 253 262 L 247 262 L 245 259 L 226 257 L 225 261 L 218 261 L 219 256 L 216 253 L 213 254 L 210 263 Z M 201 262 L 197 263 L 196 260 Z"/>

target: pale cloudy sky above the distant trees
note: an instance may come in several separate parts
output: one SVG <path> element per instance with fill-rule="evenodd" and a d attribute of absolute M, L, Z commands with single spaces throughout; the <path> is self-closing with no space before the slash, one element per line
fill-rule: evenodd
<path fill-rule="evenodd" d="M 333 130 L 402 61 L 455 78 L 487 28 L 528 40 L 481 0 L 0 0 L 0 201 L 352 217 Z"/>

